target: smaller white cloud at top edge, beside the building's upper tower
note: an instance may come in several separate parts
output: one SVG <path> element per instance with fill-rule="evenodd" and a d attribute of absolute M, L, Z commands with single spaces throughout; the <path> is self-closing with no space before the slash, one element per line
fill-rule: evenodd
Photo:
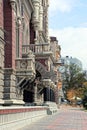
<path fill-rule="evenodd" d="M 77 0 L 50 0 L 50 12 L 69 12 Z"/>

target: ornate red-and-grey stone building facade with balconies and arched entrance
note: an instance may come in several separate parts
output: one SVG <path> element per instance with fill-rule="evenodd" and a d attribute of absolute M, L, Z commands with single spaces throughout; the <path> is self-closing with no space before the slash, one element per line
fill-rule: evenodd
<path fill-rule="evenodd" d="M 0 104 L 58 101 L 61 48 L 49 38 L 48 0 L 0 0 Z"/>

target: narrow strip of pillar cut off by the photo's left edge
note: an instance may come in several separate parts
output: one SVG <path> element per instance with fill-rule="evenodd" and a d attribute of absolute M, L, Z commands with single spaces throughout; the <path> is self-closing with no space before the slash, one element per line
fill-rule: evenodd
<path fill-rule="evenodd" d="M 4 15 L 3 15 L 3 0 L 0 0 L 0 105 L 3 102 L 4 91 Z"/>

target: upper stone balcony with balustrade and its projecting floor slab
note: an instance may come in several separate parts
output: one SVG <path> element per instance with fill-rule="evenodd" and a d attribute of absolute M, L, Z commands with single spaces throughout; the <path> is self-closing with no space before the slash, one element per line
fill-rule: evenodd
<path fill-rule="evenodd" d="M 52 51 L 49 49 L 49 44 L 30 44 L 30 45 L 23 45 L 22 46 L 22 54 L 26 55 L 31 50 L 35 56 L 48 56 L 52 54 Z"/>

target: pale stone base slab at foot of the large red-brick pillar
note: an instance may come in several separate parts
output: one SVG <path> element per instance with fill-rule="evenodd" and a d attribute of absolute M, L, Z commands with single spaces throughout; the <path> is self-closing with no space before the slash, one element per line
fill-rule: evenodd
<path fill-rule="evenodd" d="M 18 105 L 24 105 L 25 102 L 22 100 L 4 100 L 3 106 L 18 106 Z"/>

